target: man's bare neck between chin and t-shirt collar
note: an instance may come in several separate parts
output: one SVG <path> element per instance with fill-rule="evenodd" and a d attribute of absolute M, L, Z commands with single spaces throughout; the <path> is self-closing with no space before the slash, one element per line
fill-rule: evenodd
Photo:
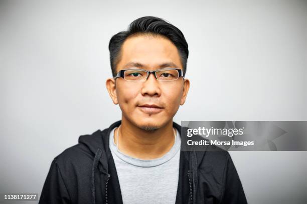
<path fill-rule="evenodd" d="M 114 141 L 121 152 L 139 159 L 155 159 L 162 157 L 174 145 L 173 121 L 164 126 L 147 131 L 141 129 L 122 116 L 121 125 L 114 131 Z"/>

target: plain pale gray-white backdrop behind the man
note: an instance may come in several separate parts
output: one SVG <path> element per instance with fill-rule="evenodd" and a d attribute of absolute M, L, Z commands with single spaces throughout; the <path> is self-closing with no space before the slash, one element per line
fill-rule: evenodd
<path fill-rule="evenodd" d="M 0 0 L 0 192 L 40 193 L 52 159 L 121 118 L 108 42 L 137 17 L 189 43 L 174 120 L 307 120 L 307 2 Z M 304 203 L 306 152 L 230 152 L 249 203 Z"/>

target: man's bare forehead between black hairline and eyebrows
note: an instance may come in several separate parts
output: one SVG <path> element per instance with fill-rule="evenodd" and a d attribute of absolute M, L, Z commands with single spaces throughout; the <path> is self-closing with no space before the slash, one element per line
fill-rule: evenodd
<path fill-rule="evenodd" d="M 143 64 L 146 69 L 159 68 L 161 64 L 173 63 L 182 68 L 177 47 L 171 40 L 161 35 L 136 35 L 128 37 L 121 47 L 117 71 L 126 64 Z"/>

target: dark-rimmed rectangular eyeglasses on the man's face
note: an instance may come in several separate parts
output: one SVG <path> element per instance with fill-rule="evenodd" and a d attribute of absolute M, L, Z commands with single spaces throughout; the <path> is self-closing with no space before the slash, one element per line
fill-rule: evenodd
<path fill-rule="evenodd" d="M 180 76 L 184 78 L 180 68 L 158 69 L 154 71 L 144 69 L 122 69 L 117 72 L 114 78 L 122 77 L 128 81 L 145 81 L 150 73 L 154 73 L 156 79 L 160 81 L 177 80 Z"/>

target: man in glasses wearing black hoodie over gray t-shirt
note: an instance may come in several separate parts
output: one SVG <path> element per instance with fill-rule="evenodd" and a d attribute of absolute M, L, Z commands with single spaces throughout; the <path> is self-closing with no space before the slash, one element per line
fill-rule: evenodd
<path fill-rule="evenodd" d="M 227 151 L 181 150 L 173 117 L 190 87 L 183 33 L 141 17 L 109 50 L 106 87 L 122 118 L 54 158 L 39 203 L 246 203 Z"/>

